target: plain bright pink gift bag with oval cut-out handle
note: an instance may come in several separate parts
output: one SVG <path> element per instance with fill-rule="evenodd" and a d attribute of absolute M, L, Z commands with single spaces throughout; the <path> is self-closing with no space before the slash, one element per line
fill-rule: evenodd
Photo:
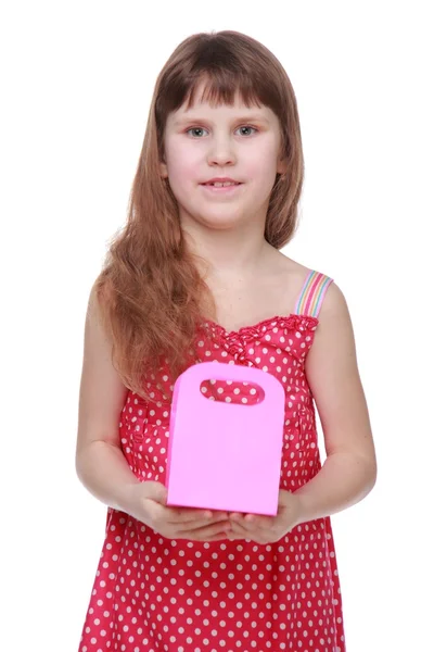
<path fill-rule="evenodd" d="M 258 402 L 209 400 L 206 380 L 254 384 Z M 283 444 L 284 390 L 260 369 L 199 363 L 174 388 L 167 504 L 275 516 Z"/>

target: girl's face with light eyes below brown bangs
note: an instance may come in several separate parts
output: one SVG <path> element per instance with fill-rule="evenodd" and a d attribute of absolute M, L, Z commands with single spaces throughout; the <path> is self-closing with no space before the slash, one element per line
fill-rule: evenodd
<path fill-rule="evenodd" d="M 240 97 L 233 106 L 181 106 L 167 118 L 164 145 L 161 173 L 168 178 L 183 226 L 265 224 L 276 174 L 285 168 L 279 160 L 279 120 L 271 109 L 247 109 Z M 239 185 L 206 185 L 221 177 Z"/>

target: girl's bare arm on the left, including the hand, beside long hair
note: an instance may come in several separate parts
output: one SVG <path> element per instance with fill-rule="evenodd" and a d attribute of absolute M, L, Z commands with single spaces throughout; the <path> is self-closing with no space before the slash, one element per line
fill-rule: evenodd
<path fill-rule="evenodd" d="M 226 513 L 168 507 L 164 485 L 140 481 L 120 448 L 119 417 L 127 388 L 112 364 L 112 342 L 92 288 L 86 315 L 76 469 L 82 485 L 106 505 L 126 512 L 170 539 L 218 541 L 230 529 Z"/>

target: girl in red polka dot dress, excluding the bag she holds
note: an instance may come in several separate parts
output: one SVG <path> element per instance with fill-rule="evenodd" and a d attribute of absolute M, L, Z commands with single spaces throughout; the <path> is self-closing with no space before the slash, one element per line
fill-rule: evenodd
<path fill-rule="evenodd" d="M 89 299 L 76 464 L 108 513 L 80 652 L 345 649 L 330 515 L 372 489 L 376 464 L 345 299 L 279 251 L 303 175 L 277 59 L 234 32 L 180 43 Z M 276 517 L 166 505 L 174 381 L 212 360 L 285 389 Z M 235 384 L 202 391 L 254 401 Z"/>

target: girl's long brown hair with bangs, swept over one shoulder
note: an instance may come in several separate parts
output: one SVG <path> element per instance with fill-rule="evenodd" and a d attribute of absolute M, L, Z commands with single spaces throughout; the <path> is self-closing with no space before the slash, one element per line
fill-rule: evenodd
<path fill-rule="evenodd" d="M 238 32 L 187 38 L 156 80 L 127 222 L 112 239 L 94 284 L 102 323 L 113 341 L 113 364 L 126 387 L 144 398 L 144 377 L 157 379 L 166 362 L 175 378 L 189 364 L 205 313 L 215 316 L 212 293 L 186 246 L 178 205 L 159 165 L 168 114 L 184 102 L 190 108 L 204 80 L 204 101 L 232 104 L 239 91 L 247 106 L 261 103 L 278 116 L 288 167 L 272 188 L 266 240 L 281 249 L 297 223 L 304 160 L 288 74 L 265 46 Z"/>

